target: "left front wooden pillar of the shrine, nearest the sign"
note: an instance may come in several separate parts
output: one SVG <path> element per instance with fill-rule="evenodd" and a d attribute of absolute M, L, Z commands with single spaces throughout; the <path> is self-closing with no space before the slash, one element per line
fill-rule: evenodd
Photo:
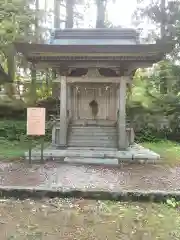
<path fill-rule="evenodd" d="M 60 147 L 66 147 L 67 144 L 67 82 L 66 77 L 60 77 L 60 136 L 59 145 Z"/>

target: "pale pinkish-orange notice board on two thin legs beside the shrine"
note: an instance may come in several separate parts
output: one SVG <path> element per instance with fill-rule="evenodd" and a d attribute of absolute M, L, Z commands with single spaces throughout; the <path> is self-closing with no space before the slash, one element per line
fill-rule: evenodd
<path fill-rule="evenodd" d="M 28 136 L 44 136 L 46 124 L 45 108 L 27 108 L 27 135 Z M 41 162 L 43 157 L 44 138 L 41 141 Z M 32 139 L 29 144 L 29 163 L 32 163 Z"/>

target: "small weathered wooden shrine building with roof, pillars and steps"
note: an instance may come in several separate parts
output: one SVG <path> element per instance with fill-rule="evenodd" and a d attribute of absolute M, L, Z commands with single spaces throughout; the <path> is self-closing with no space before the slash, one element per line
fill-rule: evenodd
<path fill-rule="evenodd" d="M 126 93 L 138 68 L 151 67 L 171 43 L 140 44 L 133 29 L 56 29 L 48 44 L 15 43 L 35 69 L 56 72 L 60 116 L 52 131 L 57 149 L 126 150 L 134 143 Z"/>

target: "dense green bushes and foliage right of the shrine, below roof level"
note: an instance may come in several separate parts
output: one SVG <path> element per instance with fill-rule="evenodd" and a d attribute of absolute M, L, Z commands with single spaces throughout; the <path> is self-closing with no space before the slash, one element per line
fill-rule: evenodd
<path fill-rule="evenodd" d="M 127 115 L 138 142 L 180 140 L 179 73 L 180 67 L 169 61 L 137 71 Z"/>

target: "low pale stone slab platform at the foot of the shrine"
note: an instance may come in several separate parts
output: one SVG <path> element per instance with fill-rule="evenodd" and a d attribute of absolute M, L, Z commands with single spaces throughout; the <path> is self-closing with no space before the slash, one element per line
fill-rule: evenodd
<path fill-rule="evenodd" d="M 33 162 L 40 161 L 40 149 L 33 149 L 31 155 Z M 25 153 L 25 159 L 29 159 L 28 152 Z M 126 151 L 119 151 L 115 148 L 69 147 L 58 149 L 49 145 L 44 149 L 43 159 L 44 161 L 56 160 L 65 163 L 118 165 L 121 162 L 157 163 L 160 161 L 160 155 L 138 144 L 132 145 Z"/>

